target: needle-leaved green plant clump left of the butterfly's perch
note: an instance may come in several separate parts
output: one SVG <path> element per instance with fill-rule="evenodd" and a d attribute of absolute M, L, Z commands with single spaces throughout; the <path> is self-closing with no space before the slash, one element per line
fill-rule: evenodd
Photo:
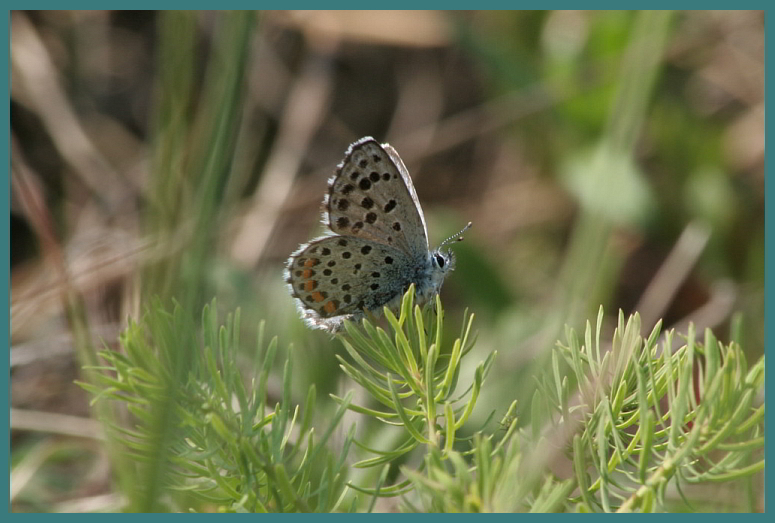
<path fill-rule="evenodd" d="M 106 364 L 92 369 L 102 371 L 98 383 L 80 385 L 96 394 L 95 401 L 126 404 L 134 426 L 111 424 L 112 437 L 139 466 L 157 469 L 163 489 L 189 493 L 221 510 L 336 510 L 352 434 L 339 456 L 328 450 L 327 443 L 349 397 L 323 434 L 316 436 L 311 423 L 315 387 L 310 386 L 302 409 L 293 406 L 289 357 L 283 365 L 282 398 L 268 403 L 277 338 L 264 344 L 263 323 L 245 376 L 238 363 L 243 357 L 238 352 L 239 310 L 219 328 L 213 300 L 204 308 L 199 339 L 190 323 L 181 307 L 170 314 L 156 300 L 143 321 L 130 322 L 121 335 L 124 353 L 100 352 Z M 180 357 L 188 360 L 182 379 L 170 372 L 176 368 L 171 361 Z M 167 404 L 172 408 L 162 411 L 165 423 L 160 427 L 159 411 Z M 148 500 L 158 496 L 142 484 L 125 494 L 130 508 L 154 506 Z M 169 508 L 185 508 L 180 501 L 171 500 Z"/>

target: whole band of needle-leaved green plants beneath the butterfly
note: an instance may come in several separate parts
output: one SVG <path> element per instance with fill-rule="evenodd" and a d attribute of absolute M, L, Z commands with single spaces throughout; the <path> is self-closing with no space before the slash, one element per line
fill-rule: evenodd
<path fill-rule="evenodd" d="M 195 336 L 180 307 L 170 314 L 156 301 L 122 335 L 124 353 L 103 351 L 106 365 L 93 369 L 98 382 L 82 384 L 95 401 L 127 405 L 134 428 L 113 424 L 111 432 L 142 466 L 157 467 L 165 492 L 189 493 L 220 510 L 371 511 L 379 498 L 400 496 L 410 511 L 647 512 L 674 507 L 673 486 L 680 492 L 686 483 L 748 481 L 764 467 L 764 404 L 757 399 L 764 359 L 749 368 L 737 342 L 721 344 L 710 330 L 700 343 L 690 327 L 673 350 L 672 331 L 660 335 L 657 325 L 641 338 L 638 315 L 625 322 L 620 313 L 606 350 L 601 308 L 583 340 L 568 329 L 566 343 L 553 349 L 526 420 L 512 402 L 496 430 L 487 422 L 474 429 L 469 417 L 496 354 L 461 387 L 475 343 L 473 315 L 466 313 L 450 343 L 441 301 L 421 309 L 410 288 L 397 317 L 385 311 L 387 330 L 368 319 L 362 328 L 345 324 L 339 338 L 347 357 L 337 357 L 374 405 L 354 404 L 352 391 L 332 396 L 335 413 L 317 438 L 314 387 L 303 408 L 293 405 L 286 358 L 281 398 L 271 409 L 277 339 L 264 347 L 262 324 L 253 365 L 238 364 L 245 358 L 239 320 L 237 311 L 218 328 L 213 302 Z M 181 352 L 189 363 L 179 380 L 169 369 L 180 367 L 170 362 Z M 174 408 L 159 438 L 154 412 L 165 400 Z M 350 427 L 334 449 L 331 435 L 347 409 L 363 417 L 366 430 L 356 438 Z M 387 448 L 369 443 L 369 434 L 384 433 L 370 430 L 375 424 L 398 434 Z M 159 441 L 171 443 L 161 452 Z M 370 457 L 349 474 L 367 474 L 347 481 L 345 463 L 356 447 Z M 573 472 L 558 477 L 550 465 L 563 460 Z M 156 495 L 140 487 L 127 494 Z M 171 496 L 170 508 L 191 506 L 191 499 Z"/>

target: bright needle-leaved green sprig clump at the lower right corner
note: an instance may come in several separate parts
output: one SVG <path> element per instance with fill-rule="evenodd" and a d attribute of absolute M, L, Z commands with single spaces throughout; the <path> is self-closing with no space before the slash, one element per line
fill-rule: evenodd
<path fill-rule="evenodd" d="M 680 494 L 682 483 L 732 481 L 764 469 L 764 402 L 756 399 L 763 357 L 749 368 L 736 341 L 723 345 L 706 329 L 700 343 L 693 325 L 673 350 L 674 331 L 660 338 L 657 324 L 644 339 L 638 314 L 625 322 L 621 312 L 606 352 L 602 321 L 601 307 L 594 339 L 587 322 L 583 344 L 567 332 L 534 396 L 533 412 L 548 408 L 556 414 L 550 419 L 560 420 L 548 426 L 572 434 L 579 495 L 569 503 L 583 511 L 649 512 L 668 506 L 670 485 Z M 562 362 L 578 384 L 574 397 Z"/>

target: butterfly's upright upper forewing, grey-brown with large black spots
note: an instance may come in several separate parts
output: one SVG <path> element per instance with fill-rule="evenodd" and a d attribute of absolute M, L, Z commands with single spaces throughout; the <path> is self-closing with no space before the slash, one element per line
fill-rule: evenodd
<path fill-rule="evenodd" d="M 428 253 L 428 231 L 412 178 L 398 153 L 371 137 L 345 153 L 328 182 L 324 220 L 336 234 L 395 247 L 410 259 Z"/>

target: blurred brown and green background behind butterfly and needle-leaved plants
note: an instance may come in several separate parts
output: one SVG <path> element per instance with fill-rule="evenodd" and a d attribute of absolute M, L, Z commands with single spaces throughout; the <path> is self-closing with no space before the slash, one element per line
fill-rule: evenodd
<path fill-rule="evenodd" d="M 498 351 L 481 421 L 513 399 L 529 415 L 542 355 L 600 305 L 603 338 L 620 309 L 645 334 L 691 321 L 722 340 L 740 317 L 763 353 L 763 12 L 46 11 L 10 27 L 12 510 L 117 506 L 73 380 L 153 296 L 194 317 L 213 297 L 241 307 L 243 340 L 267 320 L 293 344 L 298 401 L 353 387 L 282 269 L 366 135 L 409 168 L 431 244 L 474 224 L 442 300 L 453 333 L 476 314 L 471 371 Z"/>

